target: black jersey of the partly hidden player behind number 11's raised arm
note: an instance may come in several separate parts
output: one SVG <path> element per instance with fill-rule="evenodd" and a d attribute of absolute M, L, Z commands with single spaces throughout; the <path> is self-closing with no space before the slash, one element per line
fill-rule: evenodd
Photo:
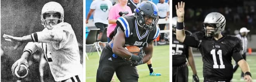
<path fill-rule="evenodd" d="M 185 31 L 186 35 L 190 35 L 191 32 L 189 31 Z M 180 43 L 177 39 L 176 39 L 176 34 L 172 34 L 173 35 L 173 44 L 172 44 L 172 56 L 173 56 L 173 66 L 180 66 L 184 63 L 187 62 L 186 58 L 188 58 L 189 56 L 189 46 L 186 46 L 183 43 Z"/>

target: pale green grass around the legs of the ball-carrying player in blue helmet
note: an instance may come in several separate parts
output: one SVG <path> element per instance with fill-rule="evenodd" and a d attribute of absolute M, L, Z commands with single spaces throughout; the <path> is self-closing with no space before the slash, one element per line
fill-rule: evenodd
<path fill-rule="evenodd" d="M 154 53 L 152 57 L 152 67 L 155 72 L 161 73 L 161 76 L 149 76 L 149 68 L 147 64 L 137 66 L 139 73 L 139 82 L 169 82 L 169 59 L 170 51 L 169 45 L 154 46 Z M 88 53 L 87 53 L 88 54 Z M 93 52 L 92 55 L 86 59 L 86 82 L 95 82 L 97 68 L 99 66 L 99 55 Z M 114 78 L 119 82 L 114 74 Z"/>

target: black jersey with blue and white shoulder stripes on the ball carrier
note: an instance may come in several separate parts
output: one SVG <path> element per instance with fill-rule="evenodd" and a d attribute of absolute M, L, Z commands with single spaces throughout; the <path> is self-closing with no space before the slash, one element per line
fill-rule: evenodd
<path fill-rule="evenodd" d="M 143 47 L 145 42 L 150 43 L 159 36 L 160 29 L 155 27 L 152 31 L 145 30 L 141 35 L 139 34 L 139 26 L 134 16 L 119 17 L 116 21 L 117 27 L 114 34 L 121 29 L 125 32 L 125 45 L 134 45 L 139 48 Z M 148 38 L 147 38 L 148 37 Z"/>

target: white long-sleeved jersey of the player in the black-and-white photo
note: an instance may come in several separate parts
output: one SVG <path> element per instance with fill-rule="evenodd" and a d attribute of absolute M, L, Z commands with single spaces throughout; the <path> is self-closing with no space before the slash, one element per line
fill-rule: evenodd
<path fill-rule="evenodd" d="M 83 74 L 78 42 L 70 24 L 61 22 L 53 26 L 52 30 L 45 28 L 31 34 L 31 37 L 34 42 L 29 42 L 24 51 L 33 54 L 42 50 L 55 81 Z"/>

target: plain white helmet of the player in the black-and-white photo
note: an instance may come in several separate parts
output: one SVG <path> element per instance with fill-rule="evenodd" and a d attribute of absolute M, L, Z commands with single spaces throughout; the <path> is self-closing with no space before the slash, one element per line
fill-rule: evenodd
<path fill-rule="evenodd" d="M 41 20 L 42 20 L 42 25 L 43 26 L 50 26 L 50 25 L 47 25 L 46 24 L 46 21 L 45 20 L 52 20 L 52 19 L 45 19 L 43 16 L 44 14 L 47 14 L 47 13 L 59 13 L 61 14 L 61 17 L 58 19 L 60 20 L 60 22 L 63 22 L 64 20 L 64 9 L 63 7 L 61 6 L 61 4 L 57 3 L 57 2 L 48 2 L 48 3 L 45 3 L 45 5 L 43 5 L 43 8 L 42 8 L 42 12 L 41 12 Z"/>

